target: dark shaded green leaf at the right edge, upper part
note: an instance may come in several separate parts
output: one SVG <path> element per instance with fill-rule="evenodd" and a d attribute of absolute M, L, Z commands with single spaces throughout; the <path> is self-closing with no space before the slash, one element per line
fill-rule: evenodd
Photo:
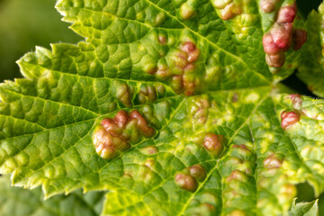
<path fill-rule="evenodd" d="M 302 79 L 313 94 L 324 97 L 323 75 L 324 58 L 322 47 L 324 4 L 320 4 L 319 12 L 312 11 L 309 15 L 306 26 L 309 34 L 307 46 L 302 48 L 302 62 L 298 68 L 298 76 Z"/>

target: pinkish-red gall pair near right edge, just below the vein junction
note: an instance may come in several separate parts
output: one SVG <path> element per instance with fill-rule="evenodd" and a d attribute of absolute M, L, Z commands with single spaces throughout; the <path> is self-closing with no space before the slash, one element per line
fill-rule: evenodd
<path fill-rule="evenodd" d="M 302 109 L 302 96 L 299 94 L 290 94 L 289 97 L 292 100 L 293 111 L 285 110 L 280 114 L 282 119 L 281 126 L 284 130 L 301 119 L 300 110 Z"/>

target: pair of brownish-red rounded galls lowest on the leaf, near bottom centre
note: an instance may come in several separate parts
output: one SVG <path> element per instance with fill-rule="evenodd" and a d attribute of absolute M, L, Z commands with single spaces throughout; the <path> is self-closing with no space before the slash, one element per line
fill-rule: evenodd
<path fill-rule="evenodd" d="M 175 184 L 186 191 L 194 192 L 198 187 L 197 181 L 202 182 L 206 176 L 201 165 L 193 165 L 175 174 Z"/>

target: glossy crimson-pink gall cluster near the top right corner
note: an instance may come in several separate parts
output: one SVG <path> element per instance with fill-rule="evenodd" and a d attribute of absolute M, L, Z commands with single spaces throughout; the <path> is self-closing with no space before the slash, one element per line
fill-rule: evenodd
<path fill-rule="evenodd" d="M 275 10 L 276 0 L 262 0 L 261 8 L 265 13 Z M 293 21 L 297 14 L 295 3 L 279 9 L 275 24 L 266 32 L 262 43 L 266 52 L 266 63 L 270 67 L 283 67 L 285 62 L 284 52 L 293 48 L 298 50 L 307 40 L 306 31 L 293 29 Z"/>

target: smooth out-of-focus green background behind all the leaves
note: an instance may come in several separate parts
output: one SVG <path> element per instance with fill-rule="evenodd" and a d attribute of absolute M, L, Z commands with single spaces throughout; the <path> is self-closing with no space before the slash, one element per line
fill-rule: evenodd
<path fill-rule="evenodd" d="M 35 46 L 50 49 L 50 43 L 59 41 L 76 43 L 83 40 L 61 22 L 61 15 L 54 9 L 56 0 L 0 0 L 0 82 L 21 77 L 15 61 Z M 317 9 L 321 0 L 297 0 L 303 17 Z M 301 91 L 302 82 L 296 76 L 284 81 Z M 306 89 L 306 86 L 304 86 Z M 301 94 L 311 93 L 300 92 Z M 298 202 L 315 199 L 309 184 L 299 184 Z M 320 195 L 320 215 L 324 216 L 324 193 Z"/>

